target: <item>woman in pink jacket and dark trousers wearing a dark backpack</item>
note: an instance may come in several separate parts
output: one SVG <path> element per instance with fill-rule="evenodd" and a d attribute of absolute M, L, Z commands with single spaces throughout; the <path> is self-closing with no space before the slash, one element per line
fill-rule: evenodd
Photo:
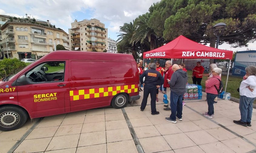
<path fill-rule="evenodd" d="M 214 68 L 212 70 L 212 75 L 213 77 L 211 79 L 208 79 L 205 81 L 205 92 L 207 93 L 206 98 L 207 98 L 207 104 L 208 104 L 208 112 L 203 113 L 204 116 L 212 118 L 214 117 L 214 99 L 215 97 L 218 96 L 218 91 L 216 90 L 219 89 L 220 86 L 220 81 L 222 70 L 221 68 Z M 215 88 L 216 87 L 216 88 Z"/>

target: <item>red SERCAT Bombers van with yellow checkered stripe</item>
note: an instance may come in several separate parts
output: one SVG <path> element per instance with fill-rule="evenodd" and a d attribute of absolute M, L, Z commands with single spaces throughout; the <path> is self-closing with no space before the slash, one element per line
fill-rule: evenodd
<path fill-rule="evenodd" d="M 0 130 L 38 118 L 140 99 L 132 55 L 54 51 L 0 81 Z"/>

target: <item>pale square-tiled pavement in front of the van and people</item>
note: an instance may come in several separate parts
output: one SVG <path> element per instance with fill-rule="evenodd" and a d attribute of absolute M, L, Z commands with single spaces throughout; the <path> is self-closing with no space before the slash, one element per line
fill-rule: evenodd
<path fill-rule="evenodd" d="M 151 115 L 150 97 L 149 106 L 141 112 L 142 99 L 143 96 L 132 107 L 128 105 L 123 110 L 103 108 L 45 117 L 14 152 L 132 153 L 141 147 L 147 153 L 242 153 L 256 147 L 255 109 L 251 127 L 233 123 L 240 119 L 239 104 L 229 100 L 219 100 L 214 105 L 215 117 L 209 119 L 201 115 L 207 111 L 204 93 L 200 101 L 186 101 L 183 121 L 173 124 L 165 120 L 170 111 L 163 110 L 162 93 L 157 102 L 159 115 Z M 15 131 L 0 131 L 0 152 L 7 152 L 33 123 L 28 121 Z M 133 130 L 135 137 L 131 134 Z M 139 140 L 137 146 L 136 138 Z"/>

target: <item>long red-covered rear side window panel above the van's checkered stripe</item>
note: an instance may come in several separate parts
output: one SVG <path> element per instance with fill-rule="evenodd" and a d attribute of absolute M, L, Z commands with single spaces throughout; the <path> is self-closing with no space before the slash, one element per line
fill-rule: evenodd
<path fill-rule="evenodd" d="M 79 71 L 78 71 L 79 70 Z M 116 61 L 72 61 L 71 79 L 94 80 L 110 78 L 133 77 L 132 64 L 130 62 Z"/>

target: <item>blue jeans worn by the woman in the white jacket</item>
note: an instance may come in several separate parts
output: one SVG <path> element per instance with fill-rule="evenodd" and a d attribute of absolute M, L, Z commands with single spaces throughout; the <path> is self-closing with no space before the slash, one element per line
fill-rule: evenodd
<path fill-rule="evenodd" d="M 241 122 L 251 122 L 252 115 L 252 103 L 256 97 L 249 98 L 246 96 L 240 96 L 239 110 L 241 114 Z"/>

